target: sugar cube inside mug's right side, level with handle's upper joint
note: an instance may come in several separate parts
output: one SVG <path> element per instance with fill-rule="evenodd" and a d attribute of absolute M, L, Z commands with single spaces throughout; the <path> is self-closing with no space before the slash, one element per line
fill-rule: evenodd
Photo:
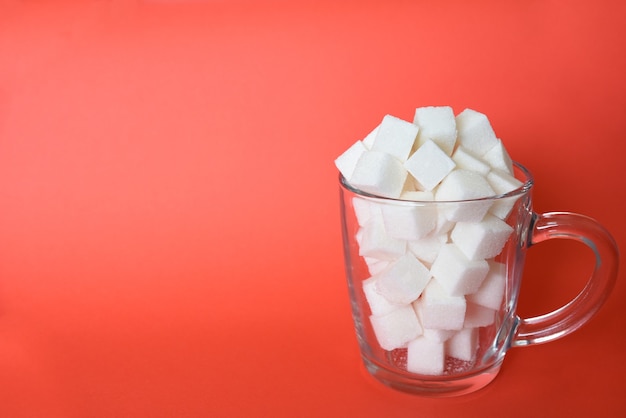
<path fill-rule="evenodd" d="M 450 238 L 467 258 L 480 260 L 500 254 L 512 232 L 506 222 L 488 213 L 480 222 L 457 222 Z"/>

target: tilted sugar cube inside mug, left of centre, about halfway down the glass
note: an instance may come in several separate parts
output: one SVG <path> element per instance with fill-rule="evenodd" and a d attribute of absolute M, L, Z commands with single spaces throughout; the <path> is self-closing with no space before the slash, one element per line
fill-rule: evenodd
<path fill-rule="evenodd" d="M 405 254 L 378 276 L 378 293 L 392 303 L 409 304 L 422 294 L 430 280 L 430 271 L 414 255 Z"/>

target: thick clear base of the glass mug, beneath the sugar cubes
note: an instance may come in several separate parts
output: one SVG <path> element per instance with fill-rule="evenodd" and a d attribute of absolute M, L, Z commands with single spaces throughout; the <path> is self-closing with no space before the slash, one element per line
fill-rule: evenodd
<path fill-rule="evenodd" d="M 390 353 L 390 355 L 394 355 Z M 396 354 L 397 355 L 397 354 Z M 426 376 L 401 373 L 375 360 L 362 356 L 369 374 L 383 385 L 395 390 L 424 397 L 452 397 L 476 392 L 491 383 L 502 366 L 502 359 L 483 369 L 470 373 L 444 376 Z"/>

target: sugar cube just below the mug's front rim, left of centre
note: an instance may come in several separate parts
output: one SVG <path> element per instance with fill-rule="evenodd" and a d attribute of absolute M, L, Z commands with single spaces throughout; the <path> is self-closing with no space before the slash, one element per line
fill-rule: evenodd
<path fill-rule="evenodd" d="M 387 234 L 397 239 L 420 239 L 437 225 L 437 209 L 432 205 L 390 203 L 381 212 Z"/>

